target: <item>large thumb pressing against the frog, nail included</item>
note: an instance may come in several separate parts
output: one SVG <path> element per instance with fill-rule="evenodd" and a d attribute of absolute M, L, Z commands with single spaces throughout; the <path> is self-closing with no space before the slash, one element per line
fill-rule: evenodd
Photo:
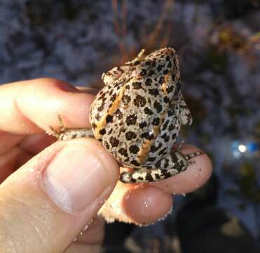
<path fill-rule="evenodd" d="M 0 185 L 0 252 L 63 252 L 107 200 L 118 172 L 93 139 L 50 145 Z"/>

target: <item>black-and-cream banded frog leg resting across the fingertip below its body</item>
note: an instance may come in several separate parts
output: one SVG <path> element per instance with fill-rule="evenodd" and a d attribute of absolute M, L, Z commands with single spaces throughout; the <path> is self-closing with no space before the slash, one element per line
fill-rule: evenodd
<path fill-rule="evenodd" d="M 120 175 L 120 180 L 123 183 L 145 183 L 167 179 L 170 176 L 175 176 L 179 172 L 186 170 L 189 164 L 192 164 L 189 160 L 192 157 L 202 154 L 204 154 L 203 151 L 198 151 L 196 153 L 182 155 L 182 153 L 172 150 L 169 155 L 156 163 L 156 168 L 142 168 L 135 171 L 123 172 Z"/>

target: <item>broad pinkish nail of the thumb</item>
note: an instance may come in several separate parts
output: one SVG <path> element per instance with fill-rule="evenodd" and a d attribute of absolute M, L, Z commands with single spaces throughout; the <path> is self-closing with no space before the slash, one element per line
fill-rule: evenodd
<path fill-rule="evenodd" d="M 100 157 L 83 145 L 65 146 L 43 172 L 46 193 L 67 212 L 87 208 L 109 186 Z"/>

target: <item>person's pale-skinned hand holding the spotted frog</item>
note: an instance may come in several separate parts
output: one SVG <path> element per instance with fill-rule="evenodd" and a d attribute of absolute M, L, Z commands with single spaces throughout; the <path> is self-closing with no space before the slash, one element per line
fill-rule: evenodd
<path fill-rule="evenodd" d="M 210 178 L 212 164 L 204 154 L 194 157 L 195 164 L 170 179 L 124 184 L 118 182 L 118 163 L 95 139 L 56 142 L 46 134 L 49 126 L 59 128 L 57 115 L 67 128 L 90 127 L 88 114 L 95 92 L 78 91 L 47 78 L 0 86 L 0 252 L 98 252 L 104 221 L 95 214 L 108 198 L 108 206 L 116 202 L 117 208 L 109 209 L 109 216 L 137 224 L 153 223 L 169 212 L 173 193 L 190 193 Z M 64 156 L 66 150 L 72 150 L 72 158 Z M 184 145 L 182 152 L 198 150 Z M 56 158 L 62 153 L 62 160 Z M 88 168 L 85 154 L 93 155 L 95 169 Z M 69 204 L 67 196 L 60 200 L 50 193 L 53 188 L 48 182 L 55 183 L 49 176 L 55 174 L 53 167 L 57 171 L 73 167 L 74 174 L 81 171 L 85 176 L 85 184 L 73 186 Z M 100 169 L 102 176 L 95 179 Z M 89 177 L 88 171 L 93 171 Z M 59 180 L 73 181 L 69 173 L 59 174 Z M 86 188 L 91 184 L 91 190 Z M 78 236 L 88 223 L 88 229 Z"/>

